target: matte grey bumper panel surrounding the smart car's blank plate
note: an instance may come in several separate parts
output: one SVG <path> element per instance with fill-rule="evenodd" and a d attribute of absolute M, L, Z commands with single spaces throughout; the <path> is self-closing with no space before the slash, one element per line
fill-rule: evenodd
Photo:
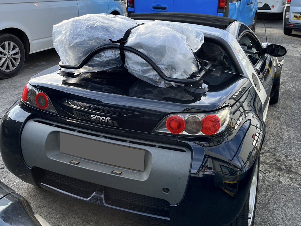
<path fill-rule="evenodd" d="M 133 141 L 135 143 L 131 143 L 132 140 L 124 140 L 125 142 L 123 142 L 122 138 L 109 137 L 106 134 L 91 131 L 83 134 L 79 133 L 76 128 L 68 128 L 51 126 L 49 122 L 41 123 L 41 120 L 29 120 L 21 135 L 22 153 L 26 164 L 31 168 L 43 168 L 106 187 L 165 199 L 171 205 L 181 202 L 191 170 L 192 154 L 190 150 L 166 145 L 166 149 L 164 149 L 162 146 L 149 143 L 140 145 L 135 140 Z M 131 170 L 63 154 L 59 150 L 60 132 L 142 149 L 145 151 L 144 171 Z M 71 160 L 80 163 L 72 165 L 69 163 Z M 111 174 L 113 170 L 121 171 L 122 174 L 120 176 Z M 163 188 L 168 188 L 170 192 L 168 194 L 163 193 Z"/>

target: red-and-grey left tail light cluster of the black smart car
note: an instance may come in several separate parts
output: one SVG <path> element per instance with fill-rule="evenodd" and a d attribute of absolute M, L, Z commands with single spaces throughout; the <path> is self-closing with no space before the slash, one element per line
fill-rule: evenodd
<path fill-rule="evenodd" d="M 51 113 L 57 113 L 54 110 L 48 96 L 39 89 L 33 88 L 33 86 L 30 86 L 28 83 L 24 86 L 21 99 L 23 103 L 33 108 L 42 109 Z"/>

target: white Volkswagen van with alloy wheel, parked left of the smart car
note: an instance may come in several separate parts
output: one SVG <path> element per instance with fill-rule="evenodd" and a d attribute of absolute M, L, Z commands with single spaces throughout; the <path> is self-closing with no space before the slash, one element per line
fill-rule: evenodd
<path fill-rule="evenodd" d="M 120 0 L 0 0 L 0 78 L 20 71 L 28 54 L 53 48 L 52 27 L 85 14 L 123 15 Z"/>

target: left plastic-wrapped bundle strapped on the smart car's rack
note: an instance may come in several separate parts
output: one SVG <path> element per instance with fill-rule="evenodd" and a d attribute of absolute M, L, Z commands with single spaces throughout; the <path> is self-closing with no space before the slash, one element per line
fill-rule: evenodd
<path fill-rule="evenodd" d="M 78 65 L 82 58 L 97 47 L 118 40 L 139 24 L 124 16 L 87 14 L 53 26 L 53 46 L 64 64 Z M 123 67 L 118 49 L 108 49 L 95 55 L 77 72 L 105 71 Z M 64 69 L 65 71 L 72 71 Z"/>

